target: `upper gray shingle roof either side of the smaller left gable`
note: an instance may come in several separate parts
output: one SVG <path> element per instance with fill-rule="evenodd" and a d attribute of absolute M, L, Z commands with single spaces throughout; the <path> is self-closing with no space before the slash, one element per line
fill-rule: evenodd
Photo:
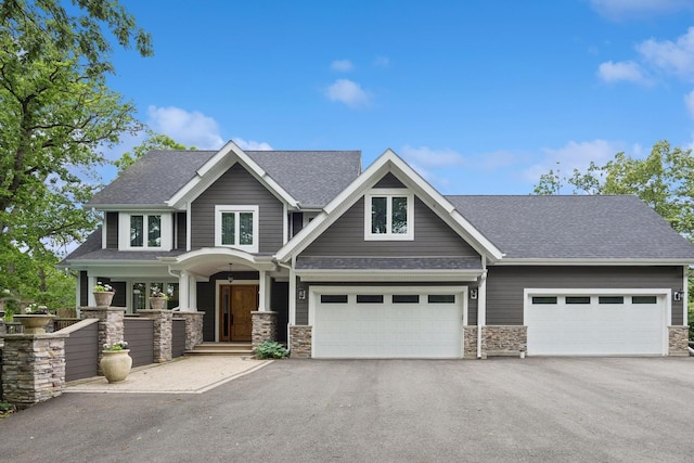
<path fill-rule="evenodd" d="M 162 206 L 216 151 L 154 150 L 128 167 L 90 206 Z M 325 206 L 361 171 L 359 151 L 246 151 L 303 206 Z"/>

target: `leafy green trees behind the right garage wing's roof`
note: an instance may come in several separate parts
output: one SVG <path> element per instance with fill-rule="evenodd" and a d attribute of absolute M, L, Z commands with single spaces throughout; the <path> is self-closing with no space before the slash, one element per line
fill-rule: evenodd
<path fill-rule="evenodd" d="M 653 145 L 645 159 L 617 153 L 604 166 L 591 163 L 584 172 L 570 177 L 550 170 L 540 176 L 536 194 L 558 194 L 563 184 L 574 194 L 634 194 L 664 217 L 674 230 L 694 237 L 694 158 L 691 150 L 671 147 L 667 141 Z"/>

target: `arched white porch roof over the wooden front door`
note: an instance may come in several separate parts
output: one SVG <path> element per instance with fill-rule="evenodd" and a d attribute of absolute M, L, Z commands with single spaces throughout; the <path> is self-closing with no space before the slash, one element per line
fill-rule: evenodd
<path fill-rule="evenodd" d="M 162 257 L 171 271 L 189 271 L 193 274 L 209 276 L 219 271 L 228 271 L 230 263 L 236 265 L 234 270 L 277 270 L 272 256 L 248 254 L 226 247 L 203 247 L 176 257 Z"/>

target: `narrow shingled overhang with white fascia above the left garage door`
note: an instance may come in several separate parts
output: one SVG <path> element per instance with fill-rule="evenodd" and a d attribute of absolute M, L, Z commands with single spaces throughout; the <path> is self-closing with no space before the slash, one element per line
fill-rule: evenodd
<path fill-rule="evenodd" d="M 479 257 L 304 257 L 295 273 L 303 281 L 477 281 Z"/>

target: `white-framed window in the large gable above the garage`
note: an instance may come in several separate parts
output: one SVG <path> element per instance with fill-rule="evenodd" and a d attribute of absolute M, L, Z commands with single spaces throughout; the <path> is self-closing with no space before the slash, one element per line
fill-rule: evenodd
<path fill-rule="evenodd" d="M 372 190 L 364 201 L 365 240 L 414 240 L 414 196 L 408 190 Z"/>

